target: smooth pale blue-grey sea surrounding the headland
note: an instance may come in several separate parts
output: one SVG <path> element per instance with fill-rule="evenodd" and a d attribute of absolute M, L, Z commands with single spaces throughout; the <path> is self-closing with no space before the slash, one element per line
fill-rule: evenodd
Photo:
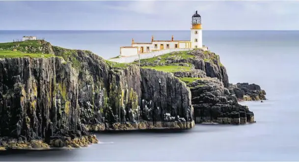
<path fill-rule="evenodd" d="M 0 30 L 0 42 L 24 35 L 54 46 L 90 50 L 106 59 L 135 42 L 189 40 L 189 30 Z M 255 124 L 200 125 L 180 133 L 97 134 L 99 144 L 76 150 L 0 155 L 0 161 L 299 161 L 299 31 L 204 30 L 203 44 L 219 54 L 231 83 L 265 89 L 261 102 L 240 102 Z"/>

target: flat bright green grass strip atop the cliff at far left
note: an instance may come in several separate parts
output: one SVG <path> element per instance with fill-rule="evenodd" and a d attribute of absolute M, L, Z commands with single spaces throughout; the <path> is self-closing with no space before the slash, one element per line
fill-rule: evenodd
<path fill-rule="evenodd" d="M 54 56 L 55 56 L 54 54 L 25 54 L 19 51 L 0 50 L 0 58 L 15 58 L 15 57 L 49 58 Z"/>

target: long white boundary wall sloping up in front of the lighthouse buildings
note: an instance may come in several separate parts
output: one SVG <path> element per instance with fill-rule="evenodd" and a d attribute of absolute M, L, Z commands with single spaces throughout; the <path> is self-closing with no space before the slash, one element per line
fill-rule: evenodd
<path fill-rule="evenodd" d="M 130 63 L 130 62 L 134 62 L 134 61 L 138 60 L 139 56 L 140 56 L 140 59 L 145 59 L 145 58 L 156 57 L 156 56 L 163 55 L 163 54 L 169 54 L 172 52 L 190 51 L 190 50 L 193 50 L 193 48 L 165 49 L 165 50 L 153 51 L 153 52 L 149 52 L 149 53 L 143 53 L 143 54 L 132 55 L 132 56 L 127 56 L 127 57 L 111 58 L 111 59 L 109 59 L 109 61 L 119 62 L 119 63 Z"/>

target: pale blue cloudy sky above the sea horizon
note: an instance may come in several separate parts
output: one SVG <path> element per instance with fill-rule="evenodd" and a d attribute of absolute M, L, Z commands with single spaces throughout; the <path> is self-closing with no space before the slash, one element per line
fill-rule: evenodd
<path fill-rule="evenodd" d="M 0 1 L 0 29 L 188 30 L 195 10 L 207 30 L 298 30 L 294 0 Z"/>

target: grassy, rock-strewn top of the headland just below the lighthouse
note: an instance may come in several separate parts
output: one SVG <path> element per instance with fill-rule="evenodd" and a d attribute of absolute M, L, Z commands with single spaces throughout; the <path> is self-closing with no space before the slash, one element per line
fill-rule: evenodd
<path fill-rule="evenodd" d="M 133 64 L 138 65 L 139 62 L 136 61 Z M 173 73 L 186 83 L 200 80 L 203 77 L 217 77 L 221 80 L 226 75 L 221 72 L 224 66 L 220 62 L 219 55 L 200 49 L 141 59 L 140 66 Z"/>

